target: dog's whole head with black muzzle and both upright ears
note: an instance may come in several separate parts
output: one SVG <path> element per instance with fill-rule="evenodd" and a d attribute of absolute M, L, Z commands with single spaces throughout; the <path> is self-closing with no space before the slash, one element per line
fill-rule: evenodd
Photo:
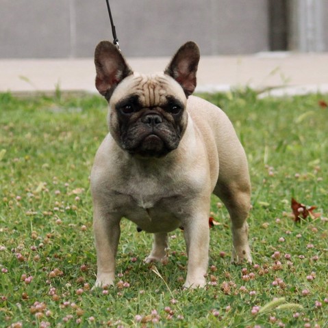
<path fill-rule="evenodd" d="M 197 44 L 187 42 L 164 73 L 138 74 L 114 44 L 98 44 L 94 53 L 96 87 L 109 102 L 110 133 L 123 150 L 161 157 L 179 146 L 186 131 L 186 101 L 196 87 L 198 63 Z"/>

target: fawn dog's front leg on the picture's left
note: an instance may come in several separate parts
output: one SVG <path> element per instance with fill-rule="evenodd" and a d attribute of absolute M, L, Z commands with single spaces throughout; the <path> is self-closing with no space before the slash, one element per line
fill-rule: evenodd
<path fill-rule="evenodd" d="M 101 215 L 94 210 L 93 228 L 97 249 L 97 280 L 95 286 L 114 285 L 115 257 L 121 234 L 121 219 Z"/>

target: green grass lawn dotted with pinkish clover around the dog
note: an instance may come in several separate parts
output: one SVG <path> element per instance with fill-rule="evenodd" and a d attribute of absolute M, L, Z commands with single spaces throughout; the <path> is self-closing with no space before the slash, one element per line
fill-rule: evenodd
<path fill-rule="evenodd" d="M 207 288 L 181 289 L 181 231 L 171 234 L 168 264 L 149 267 L 151 235 L 125 220 L 118 284 L 92 291 L 88 176 L 107 133 L 105 101 L 0 94 L 0 327 L 327 327 L 328 109 L 318 100 L 328 96 L 203 96 L 229 115 L 247 152 L 255 265 L 230 264 L 229 217 L 213 198 L 220 224 Z M 321 217 L 294 223 L 291 197 Z"/>

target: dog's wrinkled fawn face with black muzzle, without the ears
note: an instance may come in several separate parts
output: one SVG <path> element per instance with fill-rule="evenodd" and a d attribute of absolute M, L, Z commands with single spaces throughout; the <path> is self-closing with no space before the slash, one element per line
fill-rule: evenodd
<path fill-rule="evenodd" d="M 129 154 L 162 157 L 179 146 L 188 119 L 186 95 L 168 75 L 131 74 L 109 105 L 110 133 Z"/>

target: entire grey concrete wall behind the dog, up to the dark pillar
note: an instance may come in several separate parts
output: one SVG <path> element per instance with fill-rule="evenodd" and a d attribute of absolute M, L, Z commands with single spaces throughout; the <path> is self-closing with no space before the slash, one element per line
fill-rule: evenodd
<path fill-rule="evenodd" d="M 110 0 L 127 56 L 171 55 L 187 40 L 203 55 L 268 50 L 266 0 Z M 0 0 L 0 57 L 92 57 L 112 40 L 105 0 Z"/>

